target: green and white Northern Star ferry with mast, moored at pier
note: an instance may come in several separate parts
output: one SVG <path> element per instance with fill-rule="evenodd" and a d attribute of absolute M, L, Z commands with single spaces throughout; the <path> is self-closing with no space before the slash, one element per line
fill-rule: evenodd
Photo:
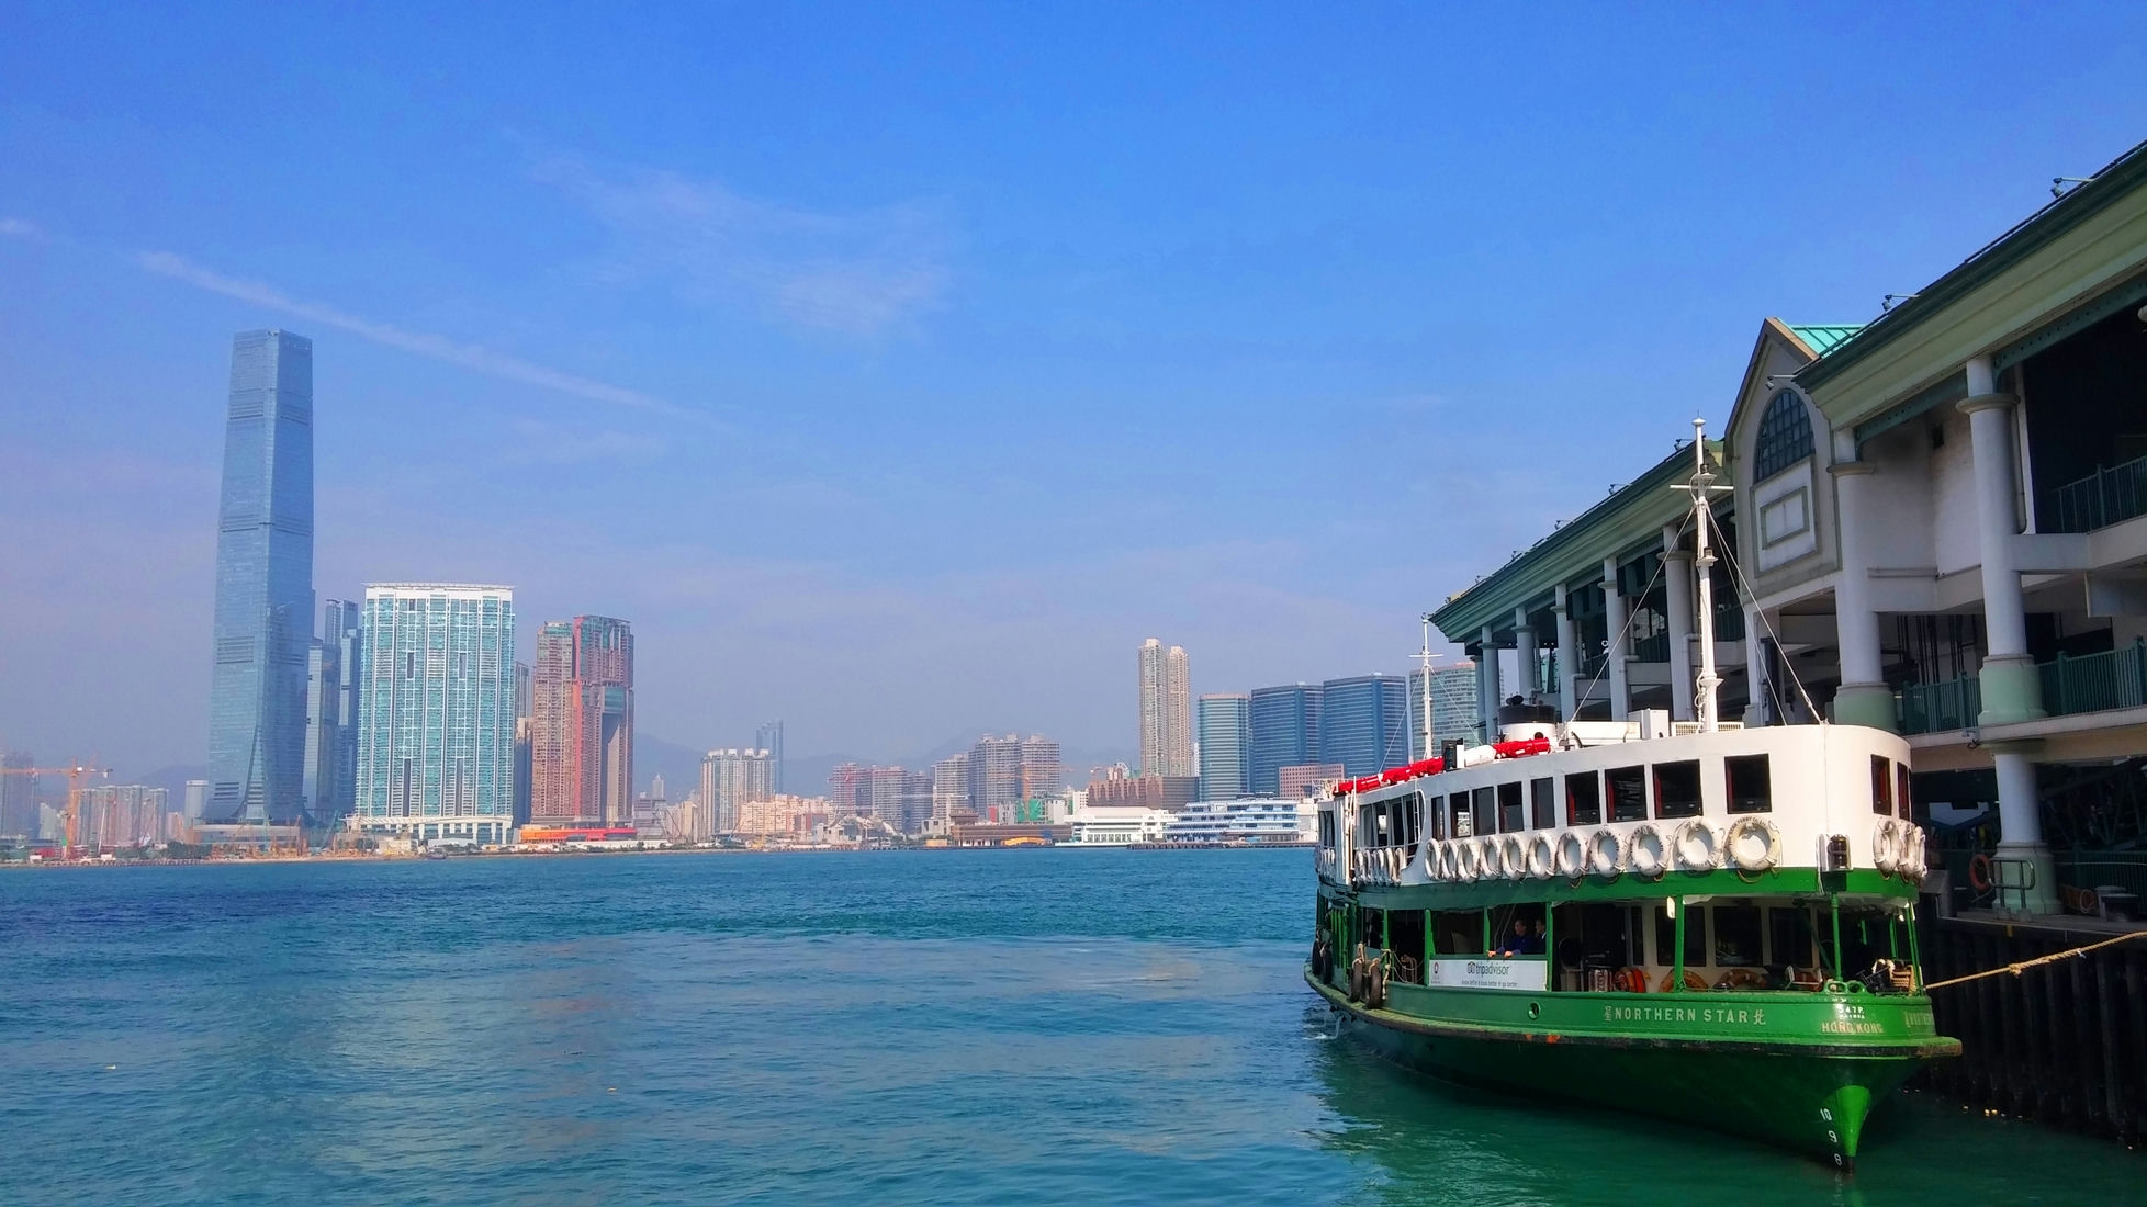
<path fill-rule="evenodd" d="M 1713 717 L 1503 724 L 1454 767 L 1331 784 L 1305 979 L 1342 1031 L 1475 1087 L 1640 1110 L 1853 1168 L 1937 1033 L 1909 745 Z"/>

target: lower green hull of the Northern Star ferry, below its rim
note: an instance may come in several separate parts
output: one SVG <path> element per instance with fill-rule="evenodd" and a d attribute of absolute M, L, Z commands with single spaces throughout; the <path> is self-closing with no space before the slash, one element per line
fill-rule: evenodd
<path fill-rule="evenodd" d="M 1441 1080 L 1638 1110 L 1748 1136 L 1855 1168 L 1870 1108 L 1956 1039 L 1887 1044 L 1711 1042 L 1645 1035 L 1505 1033 L 1365 1009 L 1305 969 L 1344 1031 L 1385 1059 Z"/>

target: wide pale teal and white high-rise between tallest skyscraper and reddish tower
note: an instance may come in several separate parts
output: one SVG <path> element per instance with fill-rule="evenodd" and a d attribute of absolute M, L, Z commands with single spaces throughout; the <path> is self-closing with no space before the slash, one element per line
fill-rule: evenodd
<path fill-rule="evenodd" d="M 511 586 L 365 588 L 352 829 L 507 842 L 513 825 Z"/>

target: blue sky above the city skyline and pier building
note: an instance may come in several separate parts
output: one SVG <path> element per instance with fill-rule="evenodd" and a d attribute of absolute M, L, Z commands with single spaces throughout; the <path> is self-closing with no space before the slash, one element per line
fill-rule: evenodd
<path fill-rule="evenodd" d="M 206 741 L 230 335 L 316 588 L 636 623 L 642 728 L 1134 743 L 1415 616 L 2147 135 L 2147 9 L 15 6 L 0 745 Z"/>

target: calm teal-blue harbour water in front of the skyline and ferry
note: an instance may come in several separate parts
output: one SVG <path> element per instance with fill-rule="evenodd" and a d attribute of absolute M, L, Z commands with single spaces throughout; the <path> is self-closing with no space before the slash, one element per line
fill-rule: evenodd
<path fill-rule="evenodd" d="M 2134 1203 L 1904 1095 L 1853 1183 L 1428 1085 L 1299 981 L 1310 853 L 0 874 L 0 1203 Z"/>

